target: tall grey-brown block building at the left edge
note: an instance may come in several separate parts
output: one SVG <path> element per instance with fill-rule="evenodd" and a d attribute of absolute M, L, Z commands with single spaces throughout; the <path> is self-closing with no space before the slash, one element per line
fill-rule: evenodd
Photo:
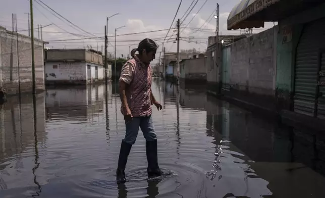
<path fill-rule="evenodd" d="M 31 38 L 0 26 L 0 87 L 7 94 L 32 91 Z M 35 77 L 37 91 L 43 91 L 43 42 L 34 39 Z"/>

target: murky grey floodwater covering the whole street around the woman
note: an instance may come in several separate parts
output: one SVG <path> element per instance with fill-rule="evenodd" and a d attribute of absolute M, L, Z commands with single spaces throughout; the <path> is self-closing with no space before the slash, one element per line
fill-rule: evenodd
<path fill-rule="evenodd" d="M 105 97 L 104 85 L 48 89 L 36 109 L 29 96 L 11 98 L 0 111 L 0 197 L 325 196 L 323 136 L 279 127 L 202 87 L 177 94 L 159 80 L 152 86 L 164 104 L 153 111 L 158 161 L 175 175 L 147 180 L 139 133 L 129 181 L 118 186 L 125 127 L 115 90 L 109 84 Z"/>

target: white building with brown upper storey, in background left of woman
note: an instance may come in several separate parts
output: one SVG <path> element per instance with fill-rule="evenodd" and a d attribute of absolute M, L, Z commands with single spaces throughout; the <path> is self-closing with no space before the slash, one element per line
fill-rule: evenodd
<path fill-rule="evenodd" d="M 94 50 L 46 50 L 46 85 L 102 82 L 105 76 L 102 60 L 102 54 Z"/>

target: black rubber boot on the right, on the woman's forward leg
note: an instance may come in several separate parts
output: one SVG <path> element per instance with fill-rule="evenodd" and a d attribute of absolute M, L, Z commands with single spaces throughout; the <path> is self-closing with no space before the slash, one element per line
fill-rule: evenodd
<path fill-rule="evenodd" d="M 148 160 L 148 176 L 161 176 L 161 172 L 158 166 L 158 156 L 157 156 L 157 140 L 146 141 L 145 142 L 145 151 L 147 154 Z"/>

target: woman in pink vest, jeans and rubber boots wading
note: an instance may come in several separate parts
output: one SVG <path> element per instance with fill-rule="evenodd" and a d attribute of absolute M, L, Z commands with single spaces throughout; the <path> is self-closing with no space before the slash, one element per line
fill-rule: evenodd
<path fill-rule="evenodd" d="M 143 39 L 138 48 L 131 51 L 132 59 L 122 68 L 119 79 L 121 113 L 125 120 L 125 138 L 121 143 L 119 164 L 116 171 L 118 182 L 125 182 L 125 166 L 134 144 L 139 127 L 146 139 L 146 155 L 148 160 L 147 172 L 149 176 L 161 176 L 157 158 L 157 136 L 152 124 L 152 108 L 155 105 L 161 110 L 161 105 L 155 100 L 151 91 L 152 70 L 150 62 L 155 59 L 157 44 L 151 39 Z M 138 51 L 139 54 L 135 55 Z"/>

